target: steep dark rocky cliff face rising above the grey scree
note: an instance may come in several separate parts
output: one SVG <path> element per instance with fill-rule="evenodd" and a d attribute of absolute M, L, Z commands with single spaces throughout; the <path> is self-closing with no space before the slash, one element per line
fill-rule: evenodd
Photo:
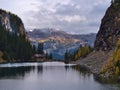
<path fill-rule="evenodd" d="M 96 36 L 95 50 L 112 50 L 120 37 L 120 4 L 112 0 Z"/>

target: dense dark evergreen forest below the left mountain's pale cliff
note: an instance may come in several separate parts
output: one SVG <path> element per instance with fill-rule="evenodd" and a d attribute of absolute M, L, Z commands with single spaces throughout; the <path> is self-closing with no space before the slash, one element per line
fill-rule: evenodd
<path fill-rule="evenodd" d="M 22 36 L 7 31 L 0 26 L 0 50 L 3 52 L 3 59 L 26 61 L 31 59 L 34 50 L 30 42 Z"/>

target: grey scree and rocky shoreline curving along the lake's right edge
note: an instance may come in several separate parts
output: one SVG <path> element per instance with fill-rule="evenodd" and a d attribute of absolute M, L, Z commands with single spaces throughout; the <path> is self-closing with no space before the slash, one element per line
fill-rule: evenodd
<path fill-rule="evenodd" d="M 98 57 L 99 56 L 99 57 Z M 94 78 L 101 83 L 120 83 L 120 78 L 108 78 L 100 74 L 101 68 L 105 65 L 108 60 L 113 56 L 113 50 L 109 52 L 95 51 L 90 53 L 87 57 L 81 58 L 77 61 L 71 62 L 77 64 L 80 67 L 87 69 L 94 75 Z"/>

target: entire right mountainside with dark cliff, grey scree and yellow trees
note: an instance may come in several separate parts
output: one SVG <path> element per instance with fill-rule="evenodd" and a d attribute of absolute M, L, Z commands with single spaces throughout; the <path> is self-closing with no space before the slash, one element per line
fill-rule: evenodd
<path fill-rule="evenodd" d="M 96 35 L 94 51 L 75 62 L 100 82 L 120 82 L 120 0 L 112 0 Z"/>

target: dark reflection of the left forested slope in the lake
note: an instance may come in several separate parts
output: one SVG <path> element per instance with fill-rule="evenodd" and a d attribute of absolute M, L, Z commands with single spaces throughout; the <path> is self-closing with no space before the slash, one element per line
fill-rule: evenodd
<path fill-rule="evenodd" d="M 24 78 L 31 71 L 42 74 L 42 66 L 22 66 L 22 67 L 2 67 L 0 68 L 0 78 Z"/>

